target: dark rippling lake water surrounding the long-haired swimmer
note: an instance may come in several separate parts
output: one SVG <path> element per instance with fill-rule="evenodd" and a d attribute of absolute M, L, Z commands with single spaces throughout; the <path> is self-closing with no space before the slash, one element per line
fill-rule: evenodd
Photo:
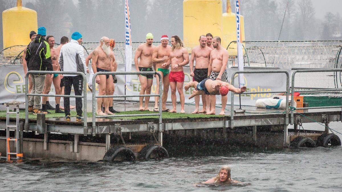
<path fill-rule="evenodd" d="M 170 152 L 173 157 L 161 161 L 2 161 L 0 191 L 342 191 L 341 146 L 285 150 L 209 147 L 197 151 L 196 156 Z M 232 179 L 250 185 L 194 185 L 216 176 L 223 165 L 231 167 Z"/>

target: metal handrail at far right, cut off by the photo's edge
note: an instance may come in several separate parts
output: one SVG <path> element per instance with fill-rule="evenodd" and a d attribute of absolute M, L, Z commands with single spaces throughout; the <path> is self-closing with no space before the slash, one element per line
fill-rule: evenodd
<path fill-rule="evenodd" d="M 342 72 L 342 69 L 297 69 L 292 71 L 292 81 L 291 81 L 291 108 L 293 108 L 293 98 L 294 98 L 294 76 L 296 73 L 308 73 L 308 72 Z M 305 88 L 305 87 L 301 87 Z M 322 92 L 322 91 L 342 91 L 342 88 L 321 88 L 321 89 L 315 89 L 313 87 L 306 87 L 309 90 L 296 90 L 296 92 L 299 93 L 307 93 L 307 92 Z M 341 105 L 340 106 L 325 106 L 325 107 L 299 107 L 296 109 L 326 109 L 326 108 L 341 108 L 342 111 L 342 100 L 341 100 Z M 294 123 L 293 119 L 293 110 L 291 110 L 291 125 Z"/>

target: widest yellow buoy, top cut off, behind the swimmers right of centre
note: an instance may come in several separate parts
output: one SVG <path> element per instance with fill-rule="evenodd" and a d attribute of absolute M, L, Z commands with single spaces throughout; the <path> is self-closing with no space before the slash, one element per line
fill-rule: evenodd
<path fill-rule="evenodd" d="M 200 35 L 211 33 L 213 36 L 220 36 L 222 39 L 221 27 L 221 0 L 183 1 L 183 39 L 189 51 L 199 45 Z"/>

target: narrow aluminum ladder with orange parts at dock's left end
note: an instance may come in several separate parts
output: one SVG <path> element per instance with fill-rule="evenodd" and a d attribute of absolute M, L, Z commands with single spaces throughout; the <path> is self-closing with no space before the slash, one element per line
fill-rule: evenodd
<path fill-rule="evenodd" d="M 16 124 L 10 125 L 10 114 L 16 114 Z M 15 128 L 15 137 L 10 137 L 10 129 Z M 19 106 L 16 106 L 15 112 L 10 112 L 10 106 L 6 106 L 6 159 L 7 161 L 11 160 L 11 155 L 16 155 L 16 158 L 19 159 L 23 157 L 23 153 L 19 153 L 20 151 L 20 130 L 19 130 Z M 10 141 L 15 142 L 16 152 L 10 151 Z"/>

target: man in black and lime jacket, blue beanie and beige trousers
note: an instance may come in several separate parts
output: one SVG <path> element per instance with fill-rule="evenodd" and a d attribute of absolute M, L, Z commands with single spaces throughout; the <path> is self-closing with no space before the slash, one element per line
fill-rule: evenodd
<path fill-rule="evenodd" d="M 26 48 L 25 60 L 29 71 L 53 71 L 50 55 L 50 46 L 45 41 L 46 29 L 40 27 L 34 41 Z M 32 80 L 31 94 L 42 94 L 44 89 L 45 74 L 30 74 Z M 44 113 L 40 111 L 40 96 L 31 96 L 28 101 L 28 111 L 33 114 Z"/>

